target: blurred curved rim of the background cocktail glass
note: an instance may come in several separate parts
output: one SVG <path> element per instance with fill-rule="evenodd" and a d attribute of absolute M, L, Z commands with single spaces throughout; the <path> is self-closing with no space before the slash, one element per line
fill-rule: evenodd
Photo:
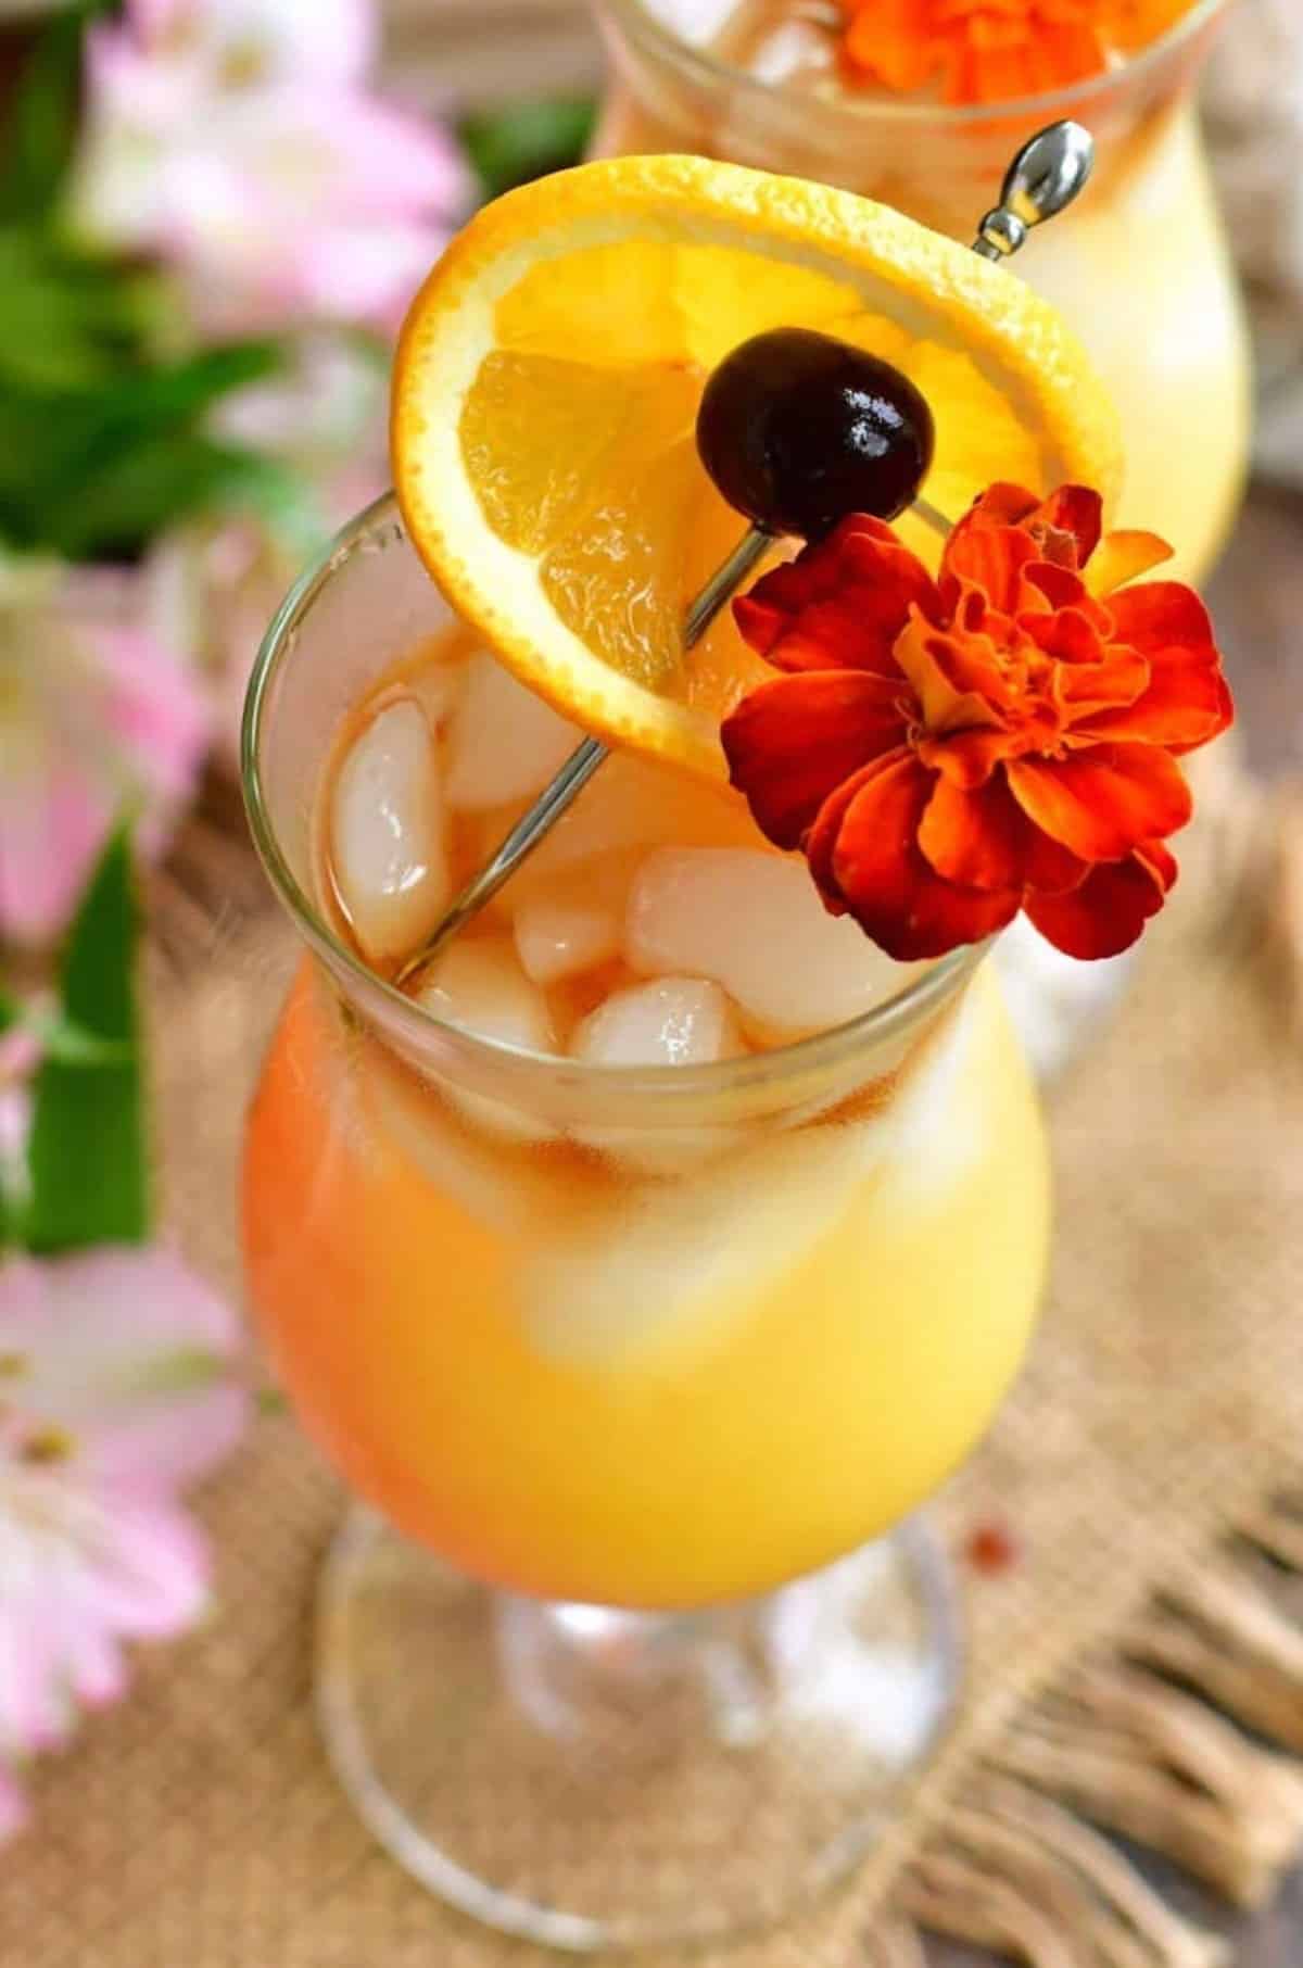
<path fill-rule="evenodd" d="M 864 124 L 943 124 L 945 128 L 978 128 L 982 124 L 994 124 L 1000 120 L 1033 120 L 1057 122 L 1063 116 L 1071 116 L 1073 110 L 1083 108 L 1096 96 L 1108 92 L 1116 87 L 1126 87 L 1132 81 L 1144 81 L 1153 69 L 1159 69 L 1167 55 L 1175 53 L 1193 41 L 1201 28 L 1207 28 L 1230 0 L 1195 0 L 1191 10 L 1173 22 L 1155 41 L 1142 47 L 1136 55 L 1122 61 L 1116 69 L 1102 69 L 1098 75 L 1086 75 L 1079 83 L 1065 83 L 1063 89 L 1047 89 L 1033 96 L 1010 96 L 1002 102 L 917 102 L 917 100 L 896 100 L 894 96 L 874 96 L 872 100 L 858 100 L 854 96 L 844 96 L 840 100 L 817 98 L 815 108 L 819 116 L 840 116 L 848 122 Z M 714 55 L 691 41 L 683 41 L 665 22 L 657 20 L 650 10 L 648 0 L 598 0 L 598 12 L 608 12 L 618 16 L 624 24 L 636 22 L 642 31 L 646 31 L 653 41 L 661 45 L 661 51 L 673 61 L 691 69 L 697 81 L 718 85 L 728 85 L 730 89 L 740 89 L 750 96 L 770 102 L 795 102 L 805 100 L 803 96 L 793 96 L 781 83 L 768 83 L 764 77 L 748 75 L 746 69 L 736 67 L 730 61 L 718 61 Z"/>

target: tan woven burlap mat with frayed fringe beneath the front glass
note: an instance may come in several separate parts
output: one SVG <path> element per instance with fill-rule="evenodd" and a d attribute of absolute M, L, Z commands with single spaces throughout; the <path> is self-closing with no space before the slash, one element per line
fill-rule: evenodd
<path fill-rule="evenodd" d="M 1053 1092 L 1045 1324 L 937 1507 L 970 1637 L 959 1726 L 854 1883 L 720 1952 L 734 1968 L 917 1968 L 919 1929 L 1041 1968 L 1210 1968 L 1218 1942 L 1102 1830 L 1240 1903 L 1303 1844 L 1303 829 L 1234 762 L 1222 779 L 1130 1000 Z M 167 1206 L 234 1293 L 242 1110 L 291 935 L 211 813 L 155 919 Z M 35 1828 L 0 1856 L 4 1968 L 543 1958 L 445 1913 L 327 1769 L 311 1618 L 342 1506 L 293 1419 L 260 1419 L 203 1500 L 209 1626 L 142 1653 L 130 1700 L 33 1773 Z M 990 1519 L 1018 1563 L 986 1574 L 962 1551 Z"/>

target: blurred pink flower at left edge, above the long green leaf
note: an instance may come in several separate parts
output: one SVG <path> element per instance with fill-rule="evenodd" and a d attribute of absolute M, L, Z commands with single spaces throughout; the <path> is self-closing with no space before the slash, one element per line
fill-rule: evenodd
<path fill-rule="evenodd" d="M 118 577 L 106 575 L 106 583 Z M 0 563 L 0 937 L 63 929 L 124 805 L 157 852 L 209 742 L 195 677 L 94 573 Z"/>

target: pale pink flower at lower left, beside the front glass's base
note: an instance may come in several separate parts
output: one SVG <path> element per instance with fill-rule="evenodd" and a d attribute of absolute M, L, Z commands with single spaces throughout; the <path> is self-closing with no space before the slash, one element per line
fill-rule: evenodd
<path fill-rule="evenodd" d="M 167 1250 L 0 1263 L 0 1836 L 16 1765 L 203 1612 L 181 1492 L 248 1415 L 230 1311 Z"/>

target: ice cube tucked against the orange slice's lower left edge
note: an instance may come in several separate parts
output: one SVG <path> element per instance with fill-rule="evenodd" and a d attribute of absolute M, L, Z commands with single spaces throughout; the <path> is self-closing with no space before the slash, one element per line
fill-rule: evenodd
<path fill-rule="evenodd" d="M 480 649 L 449 732 L 449 805 L 480 813 L 541 791 L 583 732 Z"/>

